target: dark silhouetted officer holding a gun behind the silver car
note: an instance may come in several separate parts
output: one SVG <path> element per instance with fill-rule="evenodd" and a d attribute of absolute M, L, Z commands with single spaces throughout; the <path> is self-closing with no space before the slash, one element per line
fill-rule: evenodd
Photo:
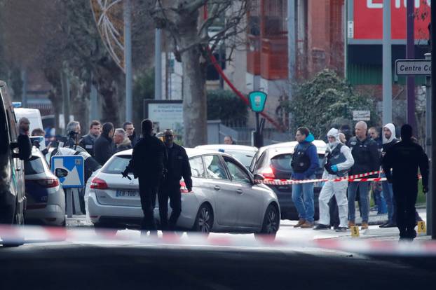
<path fill-rule="evenodd" d="M 153 122 L 149 119 L 142 120 L 142 138 L 133 147 L 132 160 L 123 172 L 123 177 L 128 177 L 128 172 L 133 172 L 139 181 L 139 195 L 141 198 L 142 219 L 141 230 L 149 230 L 156 234 L 154 222 L 154 205 L 160 181 L 166 163 L 166 149 L 163 142 L 153 134 Z"/>

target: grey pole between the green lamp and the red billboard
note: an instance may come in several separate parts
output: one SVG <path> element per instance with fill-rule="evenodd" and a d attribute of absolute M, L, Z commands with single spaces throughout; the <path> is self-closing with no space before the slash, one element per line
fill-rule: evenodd
<path fill-rule="evenodd" d="M 288 71 L 288 101 L 292 100 L 292 82 L 295 80 L 296 32 L 295 29 L 295 3 L 298 0 L 287 0 L 287 71 Z M 289 113 L 289 128 L 291 125 L 291 114 Z"/>

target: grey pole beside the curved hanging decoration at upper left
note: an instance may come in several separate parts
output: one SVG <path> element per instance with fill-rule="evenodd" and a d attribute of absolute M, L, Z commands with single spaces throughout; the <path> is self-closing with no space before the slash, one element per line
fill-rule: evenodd
<path fill-rule="evenodd" d="M 132 6 L 124 1 L 125 120 L 132 120 Z"/>

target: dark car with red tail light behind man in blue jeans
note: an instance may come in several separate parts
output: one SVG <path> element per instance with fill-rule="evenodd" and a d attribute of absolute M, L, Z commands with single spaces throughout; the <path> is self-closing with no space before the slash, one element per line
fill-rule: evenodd
<path fill-rule="evenodd" d="M 320 179 L 324 168 L 327 144 L 322 140 L 315 140 L 313 144 L 317 148 L 320 161 L 320 167 L 315 173 L 315 178 Z M 252 172 L 261 174 L 265 179 L 290 179 L 292 175 L 291 160 L 296 145 L 297 141 L 292 141 L 261 147 L 257 151 L 254 163 L 252 163 Z M 292 201 L 292 185 L 268 186 L 273 189 L 278 197 L 282 219 L 298 220 L 298 212 Z M 318 197 L 321 188 L 322 183 L 317 182 L 314 184 L 315 219 L 319 219 Z"/>

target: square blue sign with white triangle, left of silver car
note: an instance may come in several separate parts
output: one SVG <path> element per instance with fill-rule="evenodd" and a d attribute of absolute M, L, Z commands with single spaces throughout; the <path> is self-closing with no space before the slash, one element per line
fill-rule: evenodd
<path fill-rule="evenodd" d="M 82 156 L 53 156 L 51 170 L 59 178 L 63 188 L 85 186 L 85 165 Z"/>

